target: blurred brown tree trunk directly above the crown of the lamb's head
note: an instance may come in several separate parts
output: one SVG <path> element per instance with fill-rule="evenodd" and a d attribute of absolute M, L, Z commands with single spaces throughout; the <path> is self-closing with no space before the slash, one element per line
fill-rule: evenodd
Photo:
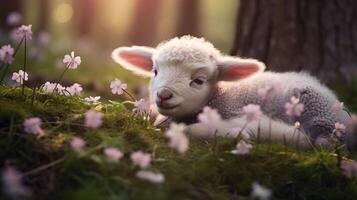
<path fill-rule="evenodd" d="M 199 35 L 199 1 L 180 0 L 177 36 Z"/>

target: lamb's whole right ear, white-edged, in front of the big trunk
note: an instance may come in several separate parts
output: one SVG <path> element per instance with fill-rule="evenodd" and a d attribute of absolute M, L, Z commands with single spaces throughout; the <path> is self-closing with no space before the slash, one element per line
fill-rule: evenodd
<path fill-rule="evenodd" d="M 224 56 L 218 60 L 218 80 L 235 81 L 264 71 L 265 65 L 254 59 Z"/>

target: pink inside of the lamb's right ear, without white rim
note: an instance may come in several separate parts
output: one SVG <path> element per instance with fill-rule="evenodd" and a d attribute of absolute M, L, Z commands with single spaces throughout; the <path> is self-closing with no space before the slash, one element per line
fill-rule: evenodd
<path fill-rule="evenodd" d="M 256 65 L 229 66 L 221 71 L 220 79 L 222 81 L 235 81 L 253 75 L 257 71 L 259 71 L 259 68 Z"/>

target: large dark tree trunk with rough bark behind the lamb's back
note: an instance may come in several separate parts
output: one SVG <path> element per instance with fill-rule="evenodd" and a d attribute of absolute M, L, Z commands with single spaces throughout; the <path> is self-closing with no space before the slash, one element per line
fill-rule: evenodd
<path fill-rule="evenodd" d="M 357 69 L 357 1 L 241 0 L 231 54 L 324 81 L 347 78 Z"/>

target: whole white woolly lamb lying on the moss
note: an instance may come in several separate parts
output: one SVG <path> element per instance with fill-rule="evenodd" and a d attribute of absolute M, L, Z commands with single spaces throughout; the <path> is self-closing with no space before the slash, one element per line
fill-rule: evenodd
<path fill-rule="evenodd" d="M 344 110 L 332 111 L 339 102 L 335 94 L 307 73 L 264 72 L 262 62 L 225 56 L 203 38 L 176 37 L 156 48 L 120 47 L 112 52 L 112 58 L 125 69 L 151 77 L 151 100 L 158 112 L 188 124 L 192 134 L 211 131 L 197 121 L 205 106 L 217 109 L 225 119 L 218 128 L 221 135 L 244 126 L 242 108 L 248 104 L 261 106 L 265 115 L 259 127 L 275 141 L 295 143 L 293 124 L 299 121 L 303 132 L 298 131 L 298 138 L 308 136 L 298 141 L 304 148 L 310 140 L 326 144 L 335 123 L 348 119 Z M 269 100 L 262 98 L 262 88 L 274 88 Z M 293 96 L 304 104 L 300 116 L 286 114 L 284 105 Z M 257 123 L 248 124 L 248 128 L 258 132 Z"/>

